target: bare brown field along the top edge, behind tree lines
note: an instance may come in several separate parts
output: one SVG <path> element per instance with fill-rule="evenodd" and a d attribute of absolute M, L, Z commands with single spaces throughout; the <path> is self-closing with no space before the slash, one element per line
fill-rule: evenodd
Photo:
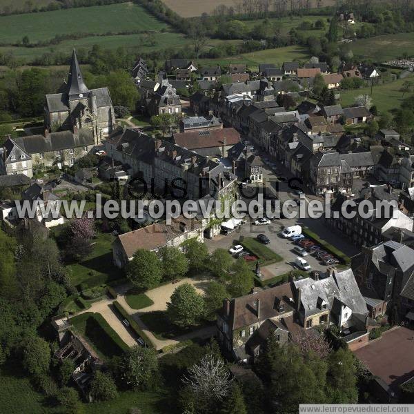
<path fill-rule="evenodd" d="M 203 13 L 210 14 L 217 8 L 217 6 L 227 6 L 233 7 L 237 5 L 237 3 L 242 3 L 241 0 L 163 0 L 166 6 L 168 6 L 171 10 L 175 11 L 181 17 L 197 17 L 201 16 Z M 311 0 L 311 8 L 316 8 L 317 3 L 320 3 L 320 7 L 326 6 L 334 6 L 335 0 Z M 270 8 L 270 11 L 272 9 Z"/>

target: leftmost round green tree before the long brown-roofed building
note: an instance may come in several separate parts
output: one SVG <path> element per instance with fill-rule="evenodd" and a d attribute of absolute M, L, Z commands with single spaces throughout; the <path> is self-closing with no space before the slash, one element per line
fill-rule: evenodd
<path fill-rule="evenodd" d="M 152 289 L 159 285 L 162 277 L 161 263 L 154 252 L 139 249 L 126 266 L 126 277 L 140 289 Z"/>

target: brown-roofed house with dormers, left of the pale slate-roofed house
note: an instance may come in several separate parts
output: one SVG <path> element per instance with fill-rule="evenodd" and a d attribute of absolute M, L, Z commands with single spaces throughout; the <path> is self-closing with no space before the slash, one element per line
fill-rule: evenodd
<path fill-rule="evenodd" d="M 292 317 L 294 310 L 290 283 L 224 299 L 217 314 L 217 339 L 233 359 L 250 359 L 259 355 L 269 335 L 280 344 L 288 342 L 284 319 Z"/>

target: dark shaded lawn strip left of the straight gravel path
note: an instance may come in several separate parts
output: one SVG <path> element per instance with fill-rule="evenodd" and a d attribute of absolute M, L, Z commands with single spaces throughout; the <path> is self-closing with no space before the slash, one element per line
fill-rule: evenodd
<path fill-rule="evenodd" d="M 100 313 L 82 313 L 70 318 L 70 323 L 103 359 L 122 355 L 129 349 Z"/>

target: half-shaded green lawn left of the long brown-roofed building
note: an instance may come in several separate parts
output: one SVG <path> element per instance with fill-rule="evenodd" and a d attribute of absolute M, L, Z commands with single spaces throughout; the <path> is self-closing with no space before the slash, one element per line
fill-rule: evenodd
<path fill-rule="evenodd" d="M 82 262 L 70 265 L 70 281 L 74 286 L 81 283 L 97 286 L 124 276 L 112 263 L 113 239 L 114 237 L 108 233 L 100 234 L 93 240 L 95 245 L 92 253 Z"/>

